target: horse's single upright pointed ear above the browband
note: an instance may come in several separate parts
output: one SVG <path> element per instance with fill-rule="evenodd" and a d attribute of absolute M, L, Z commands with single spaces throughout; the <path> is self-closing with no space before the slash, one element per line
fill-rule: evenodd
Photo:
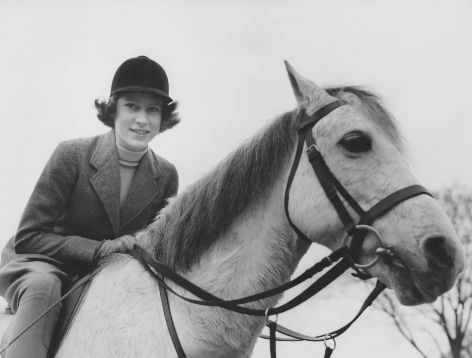
<path fill-rule="evenodd" d="M 296 72 L 287 60 L 284 60 L 284 62 L 296 102 L 300 108 L 314 113 L 324 105 L 336 101 L 324 89 Z"/>

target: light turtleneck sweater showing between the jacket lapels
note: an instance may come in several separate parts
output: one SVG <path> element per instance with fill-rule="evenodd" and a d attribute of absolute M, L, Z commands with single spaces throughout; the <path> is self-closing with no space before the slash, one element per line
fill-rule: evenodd
<path fill-rule="evenodd" d="M 141 151 L 132 151 L 120 146 L 117 142 L 118 162 L 119 162 L 119 208 L 121 209 L 125 202 L 134 176 L 138 169 L 139 161 L 143 155 L 148 151 L 148 147 Z"/>

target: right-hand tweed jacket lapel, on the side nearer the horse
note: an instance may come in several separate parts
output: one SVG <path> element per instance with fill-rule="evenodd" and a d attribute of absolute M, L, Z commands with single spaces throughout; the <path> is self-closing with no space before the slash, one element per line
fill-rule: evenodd
<path fill-rule="evenodd" d="M 138 216 L 157 195 L 155 179 L 161 175 L 161 170 L 152 155 L 151 149 L 143 155 L 139 162 L 136 175 L 129 189 L 128 197 L 119 213 L 119 227 L 123 228 Z"/>

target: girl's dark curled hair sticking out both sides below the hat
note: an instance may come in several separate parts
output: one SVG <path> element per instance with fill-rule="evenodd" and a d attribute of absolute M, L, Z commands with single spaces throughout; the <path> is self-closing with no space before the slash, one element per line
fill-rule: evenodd
<path fill-rule="evenodd" d="M 108 100 L 95 99 L 95 108 L 97 109 L 97 118 L 110 128 L 115 128 L 115 114 L 117 113 L 117 102 L 119 96 L 113 94 Z M 162 105 L 162 120 L 159 133 L 171 129 L 180 122 L 180 116 L 177 112 L 178 102 L 164 103 Z"/>

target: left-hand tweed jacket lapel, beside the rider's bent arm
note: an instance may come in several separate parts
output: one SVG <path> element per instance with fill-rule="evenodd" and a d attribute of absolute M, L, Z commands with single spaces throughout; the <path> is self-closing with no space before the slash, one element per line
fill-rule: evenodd
<path fill-rule="evenodd" d="M 114 130 L 102 136 L 90 158 L 90 164 L 98 170 L 90 179 L 90 183 L 105 208 L 115 236 L 118 237 L 120 178 L 118 151 L 115 141 Z"/>

